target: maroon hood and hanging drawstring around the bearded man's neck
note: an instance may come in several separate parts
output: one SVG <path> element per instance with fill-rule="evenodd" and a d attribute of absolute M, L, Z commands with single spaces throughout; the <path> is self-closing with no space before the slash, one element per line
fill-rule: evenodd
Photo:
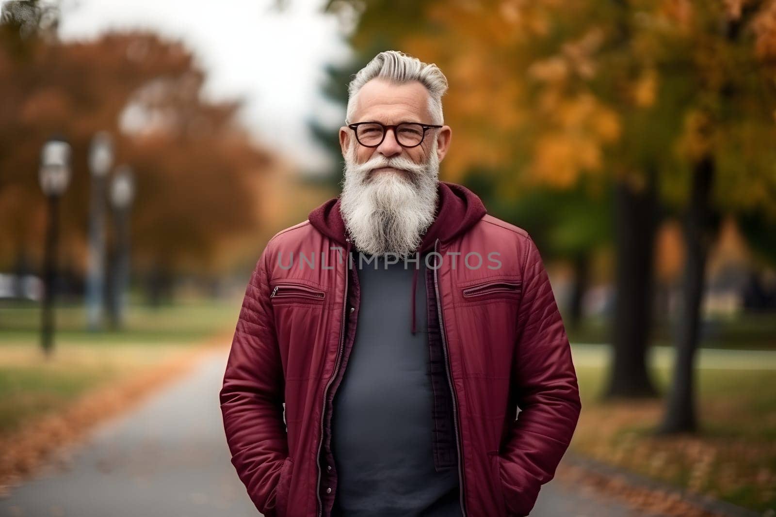
<path fill-rule="evenodd" d="M 445 243 L 466 232 L 475 222 L 482 219 L 487 213 L 485 205 L 480 198 L 468 188 L 449 181 L 437 182 L 438 204 L 434 222 L 428 227 L 416 253 L 425 253 L 434 249 L 434 243 L 438 239 Z M 323 205 L 317 207 L 308 216 L 312 224 L 320 233 L 338 243 L 345 245 L 348 238 L 348 230 L 340 213 L 340 198 L 331 198 Z M 415 288 L 417 285 L 417 270 L 415 267 L 412 278 L 411 298 L 411 330 L 415 333 Z"/>

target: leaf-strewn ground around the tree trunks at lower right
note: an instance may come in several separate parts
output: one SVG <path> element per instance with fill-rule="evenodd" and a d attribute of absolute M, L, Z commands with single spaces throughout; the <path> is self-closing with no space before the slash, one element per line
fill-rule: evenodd
<path fill-rule="evenodd" d="M 571 450 L 693 495 L 726 500 L 748 490 L 750 503 L 767 505 L 774 500 L 776 471 L 769 459 L 776 457 L 776 442 L 760 430 L 772 425 L 763 421 L 764 415 L 750 415 L 745 408 L 716 398 L 713 404 L 702 406 L 703 424 L 708 428 L 697 434 L 661 436 L 653 428 L 662 413 L 662 402 L 654 400 L 588 405 L 580 415 Z M 745 421 L 747 418 L 753 422 Z M 719 422 L 726 419 L 737 419 L 740 431 L 721 428 Z M 582 477 L 578 472 L 573 475 Z M 626 487 L 622 480 L 592 476 L 591 484 L 611 494 L 622 491 L 626 498 L 660 508 L 666 515 L 711 515 L 688 513 L 674 496 L 650 495 Z"/>

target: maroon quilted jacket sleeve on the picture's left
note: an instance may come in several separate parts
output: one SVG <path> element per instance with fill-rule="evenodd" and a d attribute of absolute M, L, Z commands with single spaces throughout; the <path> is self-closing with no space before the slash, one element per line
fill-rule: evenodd
<path fill-rule="evenodd" d="M 245 290 L 219 398 L 231 462 L 258 511 L 272 517 L 288 441 L 267 258 L 265 248 Z"/>

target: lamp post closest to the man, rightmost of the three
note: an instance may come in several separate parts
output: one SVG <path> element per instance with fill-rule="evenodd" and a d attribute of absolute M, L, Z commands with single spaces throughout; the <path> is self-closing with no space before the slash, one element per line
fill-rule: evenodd
<path fill-rule="evenodd" d="M 110 184 L 110 201 L 116 221 L 116 267 L 111 289 L 111 319 L 113 328 L 123 326 L 126 312 L 126 291 L 130 281 L 130 206 L 135 195 L 132 168 L 122 165 Z"/>

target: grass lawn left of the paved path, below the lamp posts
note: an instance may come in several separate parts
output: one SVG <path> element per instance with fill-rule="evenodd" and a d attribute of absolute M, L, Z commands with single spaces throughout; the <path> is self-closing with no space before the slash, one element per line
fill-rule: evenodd
<path fill-rule="evenodd" d="M 102 384 L 234 329 L 239 300 L 130 305 L 126 328 L 90 332 L 82 305 L 57 307 L 54 354 L 40 349 L 40 308 L 0 305 L 0 438 Z"/>

